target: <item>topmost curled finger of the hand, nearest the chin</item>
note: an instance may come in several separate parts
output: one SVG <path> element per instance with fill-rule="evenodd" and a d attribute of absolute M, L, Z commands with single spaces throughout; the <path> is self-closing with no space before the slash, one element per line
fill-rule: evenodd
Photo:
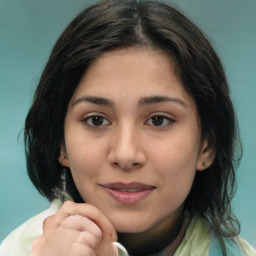
<path fill-rule="evenodd" d="M 58 222 L 63 221 L 63 218 L 68 217 L 69 215 L 81 215 L 93 221 L 102 232 L 102 238 L 107 241 L 116 241 L 117 233 L 112 222 L 107 218 L 107 216 L 101 212 L 98 208 L 93 205 L 86 203 L 74 203 L 71 201 L 66 201 L 61 209 L 60 213 L 56 218 Z"/>

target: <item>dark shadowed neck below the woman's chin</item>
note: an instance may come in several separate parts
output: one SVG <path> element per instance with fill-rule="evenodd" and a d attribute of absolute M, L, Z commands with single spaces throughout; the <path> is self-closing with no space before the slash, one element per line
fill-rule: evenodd
<path fill-rule="evenodd" d="M 156 227 L 141 233 L 119 233 L 119 242 L 125 246 L 132 255 L 150 255 L 162 251 L 170 244 L 174 244 L 172 250 L 179 246 L 186 231 L 183 228 L 184 213 L 173 219 L 162 221 Z M 187 225 L 186 225 L 187 226 Z M 183 234 L 181 235 L 181 231 Z M 179 238 L 179 239 L 176 239 Z"/>

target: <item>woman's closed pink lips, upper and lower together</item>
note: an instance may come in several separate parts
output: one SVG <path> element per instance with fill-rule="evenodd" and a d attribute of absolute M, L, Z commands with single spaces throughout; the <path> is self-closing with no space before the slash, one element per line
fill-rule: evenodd
<path fill-rule="evenodd" d="M 137 204 L 155 189 L 154 186 L 140 182 L 114 182 L 102 185 L 105 191 L 121 204 Z"/>

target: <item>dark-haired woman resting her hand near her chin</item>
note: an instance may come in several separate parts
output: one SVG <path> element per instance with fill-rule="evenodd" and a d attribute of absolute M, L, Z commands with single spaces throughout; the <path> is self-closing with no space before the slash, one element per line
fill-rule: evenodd
<path fill-rule="evenodd" d="M 42 74 L 25 141 L 52 205 L 3 255 L 112 256 L 115 241 L 129 255 L 255 254 L 230 206 L 239 140 L 222 65 L 170 6 L 102 1 L 78 15 Z"/>

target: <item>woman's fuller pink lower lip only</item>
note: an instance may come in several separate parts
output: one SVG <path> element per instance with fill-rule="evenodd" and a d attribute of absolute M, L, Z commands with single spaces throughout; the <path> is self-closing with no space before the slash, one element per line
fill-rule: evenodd
<path fill-rule="evenodd" d="M 108 194 L 113 197 L 117 202 L 121 204 L 136 204 L 146 198 L 151 192 L 153 192 L 152 189 L 145 189 L 137 192 L 123 192 L 107 187 L 103 187 Z"/>

